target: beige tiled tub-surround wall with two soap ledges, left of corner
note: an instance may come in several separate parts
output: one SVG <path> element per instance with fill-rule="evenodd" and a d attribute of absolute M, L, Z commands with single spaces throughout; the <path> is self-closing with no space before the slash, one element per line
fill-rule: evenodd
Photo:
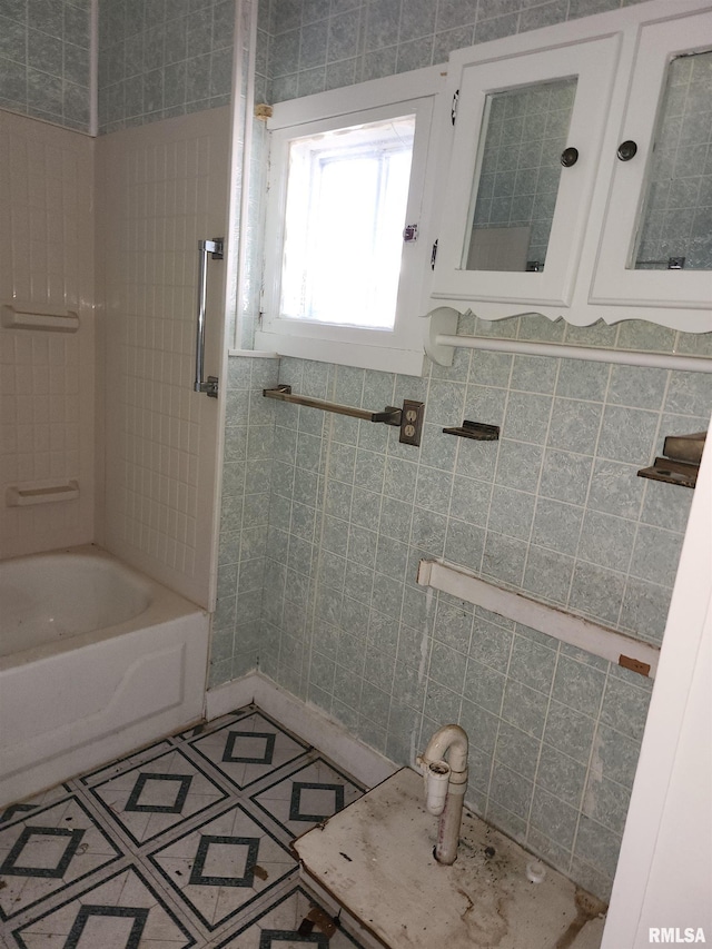
<path fill-rule="evenodd" d="M 75 333 L 0 327 L 0 558 L 93 535 L 92 141 L 0 111 L 0 306 L 75 313 Z M 6 506 L 6 488 L 79 497 Z"/>

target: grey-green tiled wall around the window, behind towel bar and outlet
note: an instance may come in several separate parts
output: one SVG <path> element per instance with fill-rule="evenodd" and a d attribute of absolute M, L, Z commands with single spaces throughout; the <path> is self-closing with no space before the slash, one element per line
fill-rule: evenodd
<path fill-rule="evenodd" d="M 260 4 L 257 96 L 264 89 L 277 101 L 442 62 L 473 41 L 619 6 L 271 0 L 268 9 Z M 710 335 L 641 324 L 575 328 L 523 318 L 490 326 L 465 318 L 461 332 L 712 353 Z M 660 642 L 691 492 L 636 472 L 666 434 L 708 426 L 710 379 L 469 350 L 458 350 L 452 368 L 431 366 L 425 379 L 281 360 L 279 380 L 308 395 L 372 409 L 423 399 L 417 449 L 385 426 L 268 407 L 263 376 L 248 382 L 246 368 L 233 372 L 239 395 L 230 393 L 227 432 L 237 455 L 226 471 L 233 466 L 239 484 L 250 471 L 251 490 L 241 504 L 239 488 L 224 504 L 221 564 L 229 572 L 220 569 L 225 607 L 211 683 L 258 664 L 402 763 L 441 724 L 459 722 L 472 743 L 472 803 L 605 898 L 651 683 L 428 594 L 415 584 L 417 562 L 444 556 Z M 463 418 L 502 425 L 501 441 L 442 433 Z M 258 457 L 248 449 L 253 428 Z M 246 511 L 246 523 L 258 527 L 243 554 Z M 263 552 L 265 564 L 253 563 Z M 259 648 L 256 627 L 239 629 L 243 562 L 251 564 L 248 576 L 265 570 Z"/>

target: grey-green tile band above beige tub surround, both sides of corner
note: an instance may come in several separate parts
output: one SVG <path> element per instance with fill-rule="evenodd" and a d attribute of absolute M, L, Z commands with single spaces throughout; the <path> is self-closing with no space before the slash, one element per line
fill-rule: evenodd
<path fill-rule="evenodd" d="M 96 0 L 99 131 L 228 105 L 235 0 Z M 90 130 L 92 0 L 0 0 L 0 108 Z"/>

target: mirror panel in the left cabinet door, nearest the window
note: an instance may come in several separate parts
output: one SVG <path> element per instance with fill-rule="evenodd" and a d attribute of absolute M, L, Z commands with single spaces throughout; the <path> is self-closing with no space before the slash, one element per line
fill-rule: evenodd
<path fill-rule="evenodd" d="M 486 96 L 463 269 L 544 269 L 575 93 L 574 77 Z"/>

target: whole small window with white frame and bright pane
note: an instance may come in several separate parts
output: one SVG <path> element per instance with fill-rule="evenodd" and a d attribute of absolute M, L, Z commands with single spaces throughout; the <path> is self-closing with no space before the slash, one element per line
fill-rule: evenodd
<path fill-rule="evenodd" d="M 422 373 L 439 82 L 418 70 L 275 107 L 259 348 Z"/>

